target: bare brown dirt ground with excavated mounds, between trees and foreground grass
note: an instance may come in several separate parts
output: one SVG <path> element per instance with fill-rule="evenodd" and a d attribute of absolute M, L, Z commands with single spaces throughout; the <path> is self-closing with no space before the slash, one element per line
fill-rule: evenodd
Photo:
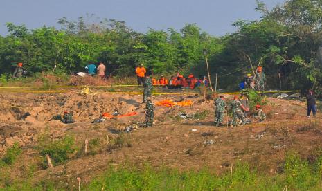
<path fill-rule="evenodd" d="M 268 98 L 269 103 L 264 107 L 268 116 L 265 122 L 254 120 L 251 125 L 227 128 L 213 125 L 213 101 L 199 102 L 201 97 L 184 94 L 154 96 L 154 102 L 188 99 L 193 100 L 194 105 L 156 107 L 154 127 L 135 129 L 145 119 L 141 95 L 1 93 L 0 98 L 0 156 L 15 142 L 23 149 L 15 165 L 3 167 L 2 172 L 7 172 L 10 179 L 24 179 L 24 167 L 33 165 L 35 182 L 49 178 L 75 182 L 78 176 L 89 181 L 110 165 L 126 163 L 139 166 L 150 163 L 154 167 L 179 170 L 209 167 L 220 173 L 243 161 L 260 172 L 276 174 L 286 152 L 299 152 L 310 161 L 314 160 L 317 148 L 322 146 L 321 115 L 307 119 L 305 102 L 297 100 Z M 75 123 L 65 125 L 60 121 L 49 121 L 65 110 L 73 111 Z M 91 123 L 101 113 L 114 111 L 122 114 L 136 111 L 138 115 Z M 181 113 L 199 115 L 183 119 L 179 117 Z M 131 125 L 134 131 L 125 133 L 129 144 L 110 149 L 111 140 Z M 44 169 L 39 165 L 42 159 L 35 148 L 44 134 L 52 140 L 71 135 L 79 147 L 85 139 L 98 138 L 100 148 L 95 155 L 75 154 L 65 165 Z"/>

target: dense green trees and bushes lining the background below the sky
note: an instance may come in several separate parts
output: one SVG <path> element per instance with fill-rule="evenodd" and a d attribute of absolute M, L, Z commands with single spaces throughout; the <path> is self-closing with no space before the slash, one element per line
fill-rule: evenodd
<path fill-rule="evenodd" d="M 314 88 L 321 92 L 322 3 L 288 0 L 268 10 L 257 1 L 260 21 L 235 21 L 238 30 L 223 37 L 202 32 L 196 24 L 180 31 L 150 29 L 137 33 L 123 21 L 58 20 L 61 29 L 7 24 L 9 34 L 0 37 L 1 73 L 12 73 L 24 62 L 30 74 L 41 71 L 83 71 L 89 62 L 105 62 L 107 74 L 133 75 L 139 62 L 156 75 L 206 73 L 203 50 L 207 50 L 211 75 L 218 73 L 219 88 L 235 89 L 245 73 L 264 66 L 268 89 Z M 251 66 L 252 64 L 252 66 Z M 280 73 L 280 78 L 278 78 Z M 212 79 L 214 82 L 214 79 Z"/>

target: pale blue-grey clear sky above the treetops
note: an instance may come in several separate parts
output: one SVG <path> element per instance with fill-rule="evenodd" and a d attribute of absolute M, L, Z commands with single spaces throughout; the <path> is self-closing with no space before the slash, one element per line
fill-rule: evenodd
<path fill-rule="evenodd" d="M 269 8 L 283 1 L 264 0 Z M 260 19 L 255 8 L 255 0 L 4 0 L 0 7 L 0 35 L 7 34 L 7 22 L 28 28 L 59 28 L 57 19 L 76 20 L 81 16 L 90 21 L 98 21 L 97 17 L 125 21 L 141 33 L 149 28 L 179 29 L 196 23 L 211 35 L 224 35 L 235 30 L 231 24 L 238 19 Z"/>

